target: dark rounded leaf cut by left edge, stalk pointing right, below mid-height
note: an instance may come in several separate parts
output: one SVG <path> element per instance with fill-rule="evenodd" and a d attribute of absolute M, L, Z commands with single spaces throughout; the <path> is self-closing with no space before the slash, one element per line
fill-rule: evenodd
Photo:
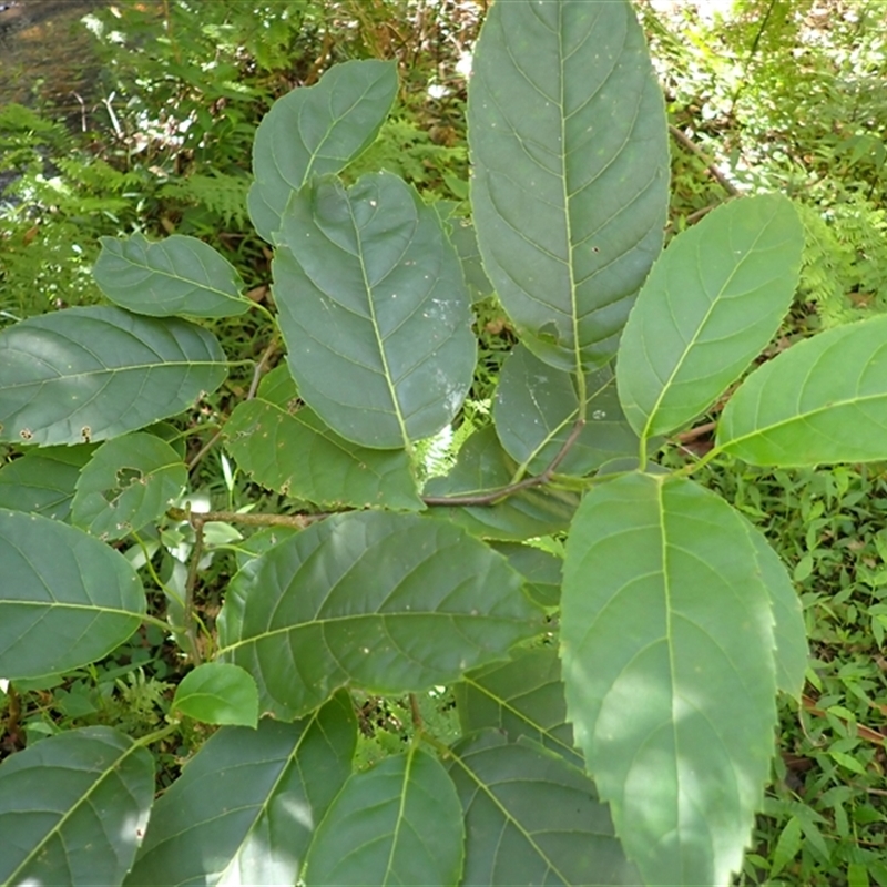
<path fill-rule="evenodd" d="M 0 509 L 0 675 L 39 677 L 101 659 L 145 612 L 116 551 L 81 530 Z"/>

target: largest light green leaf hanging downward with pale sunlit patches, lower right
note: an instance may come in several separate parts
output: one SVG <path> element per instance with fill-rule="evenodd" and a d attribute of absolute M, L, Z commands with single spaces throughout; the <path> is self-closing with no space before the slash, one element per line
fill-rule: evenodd
<path fill-rule="evenodd" d="M 595 487 L 567 542 L 561 644 L 577 744 L 644 883 L 730 884 L 776 724 L 773 615 L 745 523 L 689 480 Z"/>

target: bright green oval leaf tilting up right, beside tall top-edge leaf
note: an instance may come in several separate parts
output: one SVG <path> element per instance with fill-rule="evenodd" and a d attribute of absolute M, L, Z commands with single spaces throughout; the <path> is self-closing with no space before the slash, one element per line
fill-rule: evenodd
<path fill-rule="evenodd" d="M 694 419 L 761 354 L 792 304 L 803 248 L 778 194 L 720 206 L 674 238 L 619 350 L 619 396 L 642 438 Z"/>

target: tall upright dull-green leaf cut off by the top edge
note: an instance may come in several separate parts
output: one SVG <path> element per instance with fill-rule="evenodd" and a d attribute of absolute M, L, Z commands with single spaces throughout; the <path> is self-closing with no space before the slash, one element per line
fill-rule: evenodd
<path fill-rule="evenodd" d="M 669 205 L 665 109 L 630 3 L 495 4 L 468 98 L 471 205 L 496 292 L 546 363 L 608 363 Z"/>

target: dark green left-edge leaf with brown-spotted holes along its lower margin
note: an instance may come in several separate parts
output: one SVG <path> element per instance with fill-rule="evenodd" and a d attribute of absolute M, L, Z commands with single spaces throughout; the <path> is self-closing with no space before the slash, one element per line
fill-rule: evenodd
<path fill-rule="evenodd" d="M 0 332 L 0 441 L 83 443 L 174 416 L 225 378 L 215 337 L 179 318 L 69 308 Z"/>

